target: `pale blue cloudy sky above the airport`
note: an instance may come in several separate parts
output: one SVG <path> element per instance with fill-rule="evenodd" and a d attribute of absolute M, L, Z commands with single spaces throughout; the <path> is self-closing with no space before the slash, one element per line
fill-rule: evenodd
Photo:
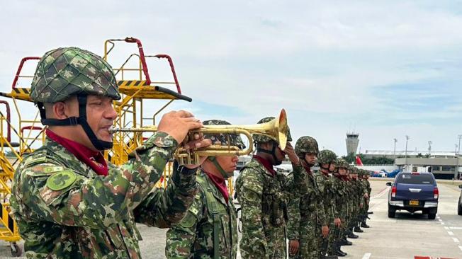
<path fill-rule="evenodd" d="M 193 102 L 171 108 L 203 120 L 252 124 L 286 108 L 295 139 L 310 135 L 338 154 L 348 131 L 359 132 L 361 151 L 393 150 L 393 138 L 404 150 L 406 134 L 409 149 L 431 140 L 432 150 L 453 151 L 462 134 L 461 4 L 1 1 L 0 91 L 11 91 L 22 57 L 72 45 L 103 54 L 104 40 L 133 36 L 147 54 L 174 58 Z M 115 50 L 111 64 L 135 50 Z M 162 64 L 150 65 L 154 80 L 169 79 Z"/>

